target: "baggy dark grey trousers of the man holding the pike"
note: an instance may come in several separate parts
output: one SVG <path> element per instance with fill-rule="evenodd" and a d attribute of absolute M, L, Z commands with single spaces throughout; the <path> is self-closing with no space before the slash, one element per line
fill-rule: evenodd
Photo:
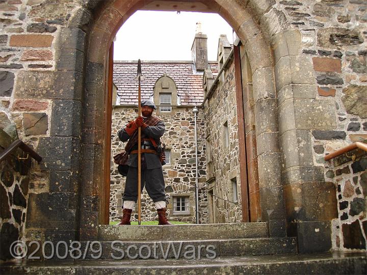
<path fill-rule="evenodd" d="M 142 169 L 141 191 L 143 191 L 144 185 L 153 202 L 166 200 L 162 167 L 149 170 Z M 138 168 L 136 167 L 129 167 L 122 199 L 135 202 L 138 200 Z"/>

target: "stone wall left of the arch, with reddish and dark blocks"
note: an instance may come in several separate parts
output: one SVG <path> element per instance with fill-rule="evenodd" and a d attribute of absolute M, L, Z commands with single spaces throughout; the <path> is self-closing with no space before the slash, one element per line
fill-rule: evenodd
<path fill-rule="evenodd" d="M 78 230 L 86 37 L 78 27 L 86 22 L 73 15 L 81 6 L 0 3 L 0 128 L 15 124 L 19 139 L 43 157 L 27 185 L 27 239 L 75 239 Z"/>

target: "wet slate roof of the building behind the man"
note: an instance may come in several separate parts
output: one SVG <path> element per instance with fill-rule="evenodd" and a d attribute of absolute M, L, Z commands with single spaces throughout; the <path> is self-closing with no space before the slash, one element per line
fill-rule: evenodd
<path fill-rule="evenodd" d="M 218 74 L 216 62 L 209 62 L 214 76 Z M 138 69 L 137 61 L 114 61 L 113 81 L 117 86 L 120 104 L 138 104 Z M 164 73 L 172 77 L 177 85 L 177 95 L 181 105 L 201 104 L 204 100 L 202 74 L 193 72 L 192 61 L 142 61 L 141 81 L 142 99 L 149 99 L 153 94 L 155 81 Z"/>

